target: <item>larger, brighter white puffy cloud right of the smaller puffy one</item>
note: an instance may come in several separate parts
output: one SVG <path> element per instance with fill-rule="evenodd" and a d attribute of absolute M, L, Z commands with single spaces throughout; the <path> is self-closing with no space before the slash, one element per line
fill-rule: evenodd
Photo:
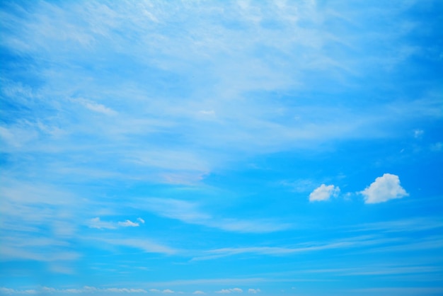
<path fill-rule="evenodd" d="M 364 203 L 384 203 L 393 198 L 403 198 L 409 194 L 400 186 L 398 176 L 385 173 L 378 177 L 366 189 L 361 191 L 364 196 Z"/>

